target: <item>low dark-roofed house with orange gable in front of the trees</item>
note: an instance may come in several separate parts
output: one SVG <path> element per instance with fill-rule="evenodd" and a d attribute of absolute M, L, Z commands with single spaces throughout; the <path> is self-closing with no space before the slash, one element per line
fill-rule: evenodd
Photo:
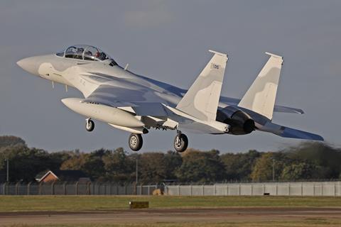
<path fill-rule="evenodd" d="M 82 170 L 46 170 L 36 175 L 37 182 L 90 182 Z"/>

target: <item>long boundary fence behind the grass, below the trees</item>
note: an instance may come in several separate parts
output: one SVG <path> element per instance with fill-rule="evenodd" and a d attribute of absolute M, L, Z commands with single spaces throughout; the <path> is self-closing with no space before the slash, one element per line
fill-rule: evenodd
<path fill-rule="evenodd" d="M 229 184 L 116 184 L 103 182 L 2 183 L 0 195 L 341 196 L 341 182 Z"/>

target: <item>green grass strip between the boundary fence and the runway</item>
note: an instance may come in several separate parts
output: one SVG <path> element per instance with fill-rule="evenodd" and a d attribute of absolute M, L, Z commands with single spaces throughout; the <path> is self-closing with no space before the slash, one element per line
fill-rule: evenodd
<path fill-rule="evenodd" d="M 151 208 L 276 206 L 341 207 L 341 197 L 308 196 L 0 196 L 0 211 L 100 211 L 128 209 L 129 201 Z"/>

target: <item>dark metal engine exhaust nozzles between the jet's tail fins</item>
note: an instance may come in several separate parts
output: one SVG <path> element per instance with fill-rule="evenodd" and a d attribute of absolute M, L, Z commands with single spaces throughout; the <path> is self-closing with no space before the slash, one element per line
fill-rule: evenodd
<path fill-rule="evenodd" d="M 244 135 L 254 131 L 254 120 L 249 114 L 234 106 L 227 106 L 224 109 L 218 109 L 217 121 L 227 123 L 231 128 L 229 134 Z"/>

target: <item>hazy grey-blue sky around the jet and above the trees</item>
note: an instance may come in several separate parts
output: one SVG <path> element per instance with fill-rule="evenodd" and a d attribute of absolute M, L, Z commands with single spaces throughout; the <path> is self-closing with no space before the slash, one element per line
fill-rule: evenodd
<path fill-rule="evenodd" d="M 212 54 L 229 55 L 222 95 L 241 98 L 268 56 L 284 65 L 276 104 L 305 114 L 274 123 L 317 133 L 340 146 L 341 1 L 0 1 L 0 135 L 50 151 L 123 147 L 129 133 L 85 118 L 60 99 L 81 97 L 28 74 L 23 57 L 90 44 L 137 74 L 188 89 Z M 173 149 L 175 131 L 144 135 L 141 152 Z M 221 153 L 278 150 L 303 140 L 270 133 L 197 135 L 189 147 Z"/>

